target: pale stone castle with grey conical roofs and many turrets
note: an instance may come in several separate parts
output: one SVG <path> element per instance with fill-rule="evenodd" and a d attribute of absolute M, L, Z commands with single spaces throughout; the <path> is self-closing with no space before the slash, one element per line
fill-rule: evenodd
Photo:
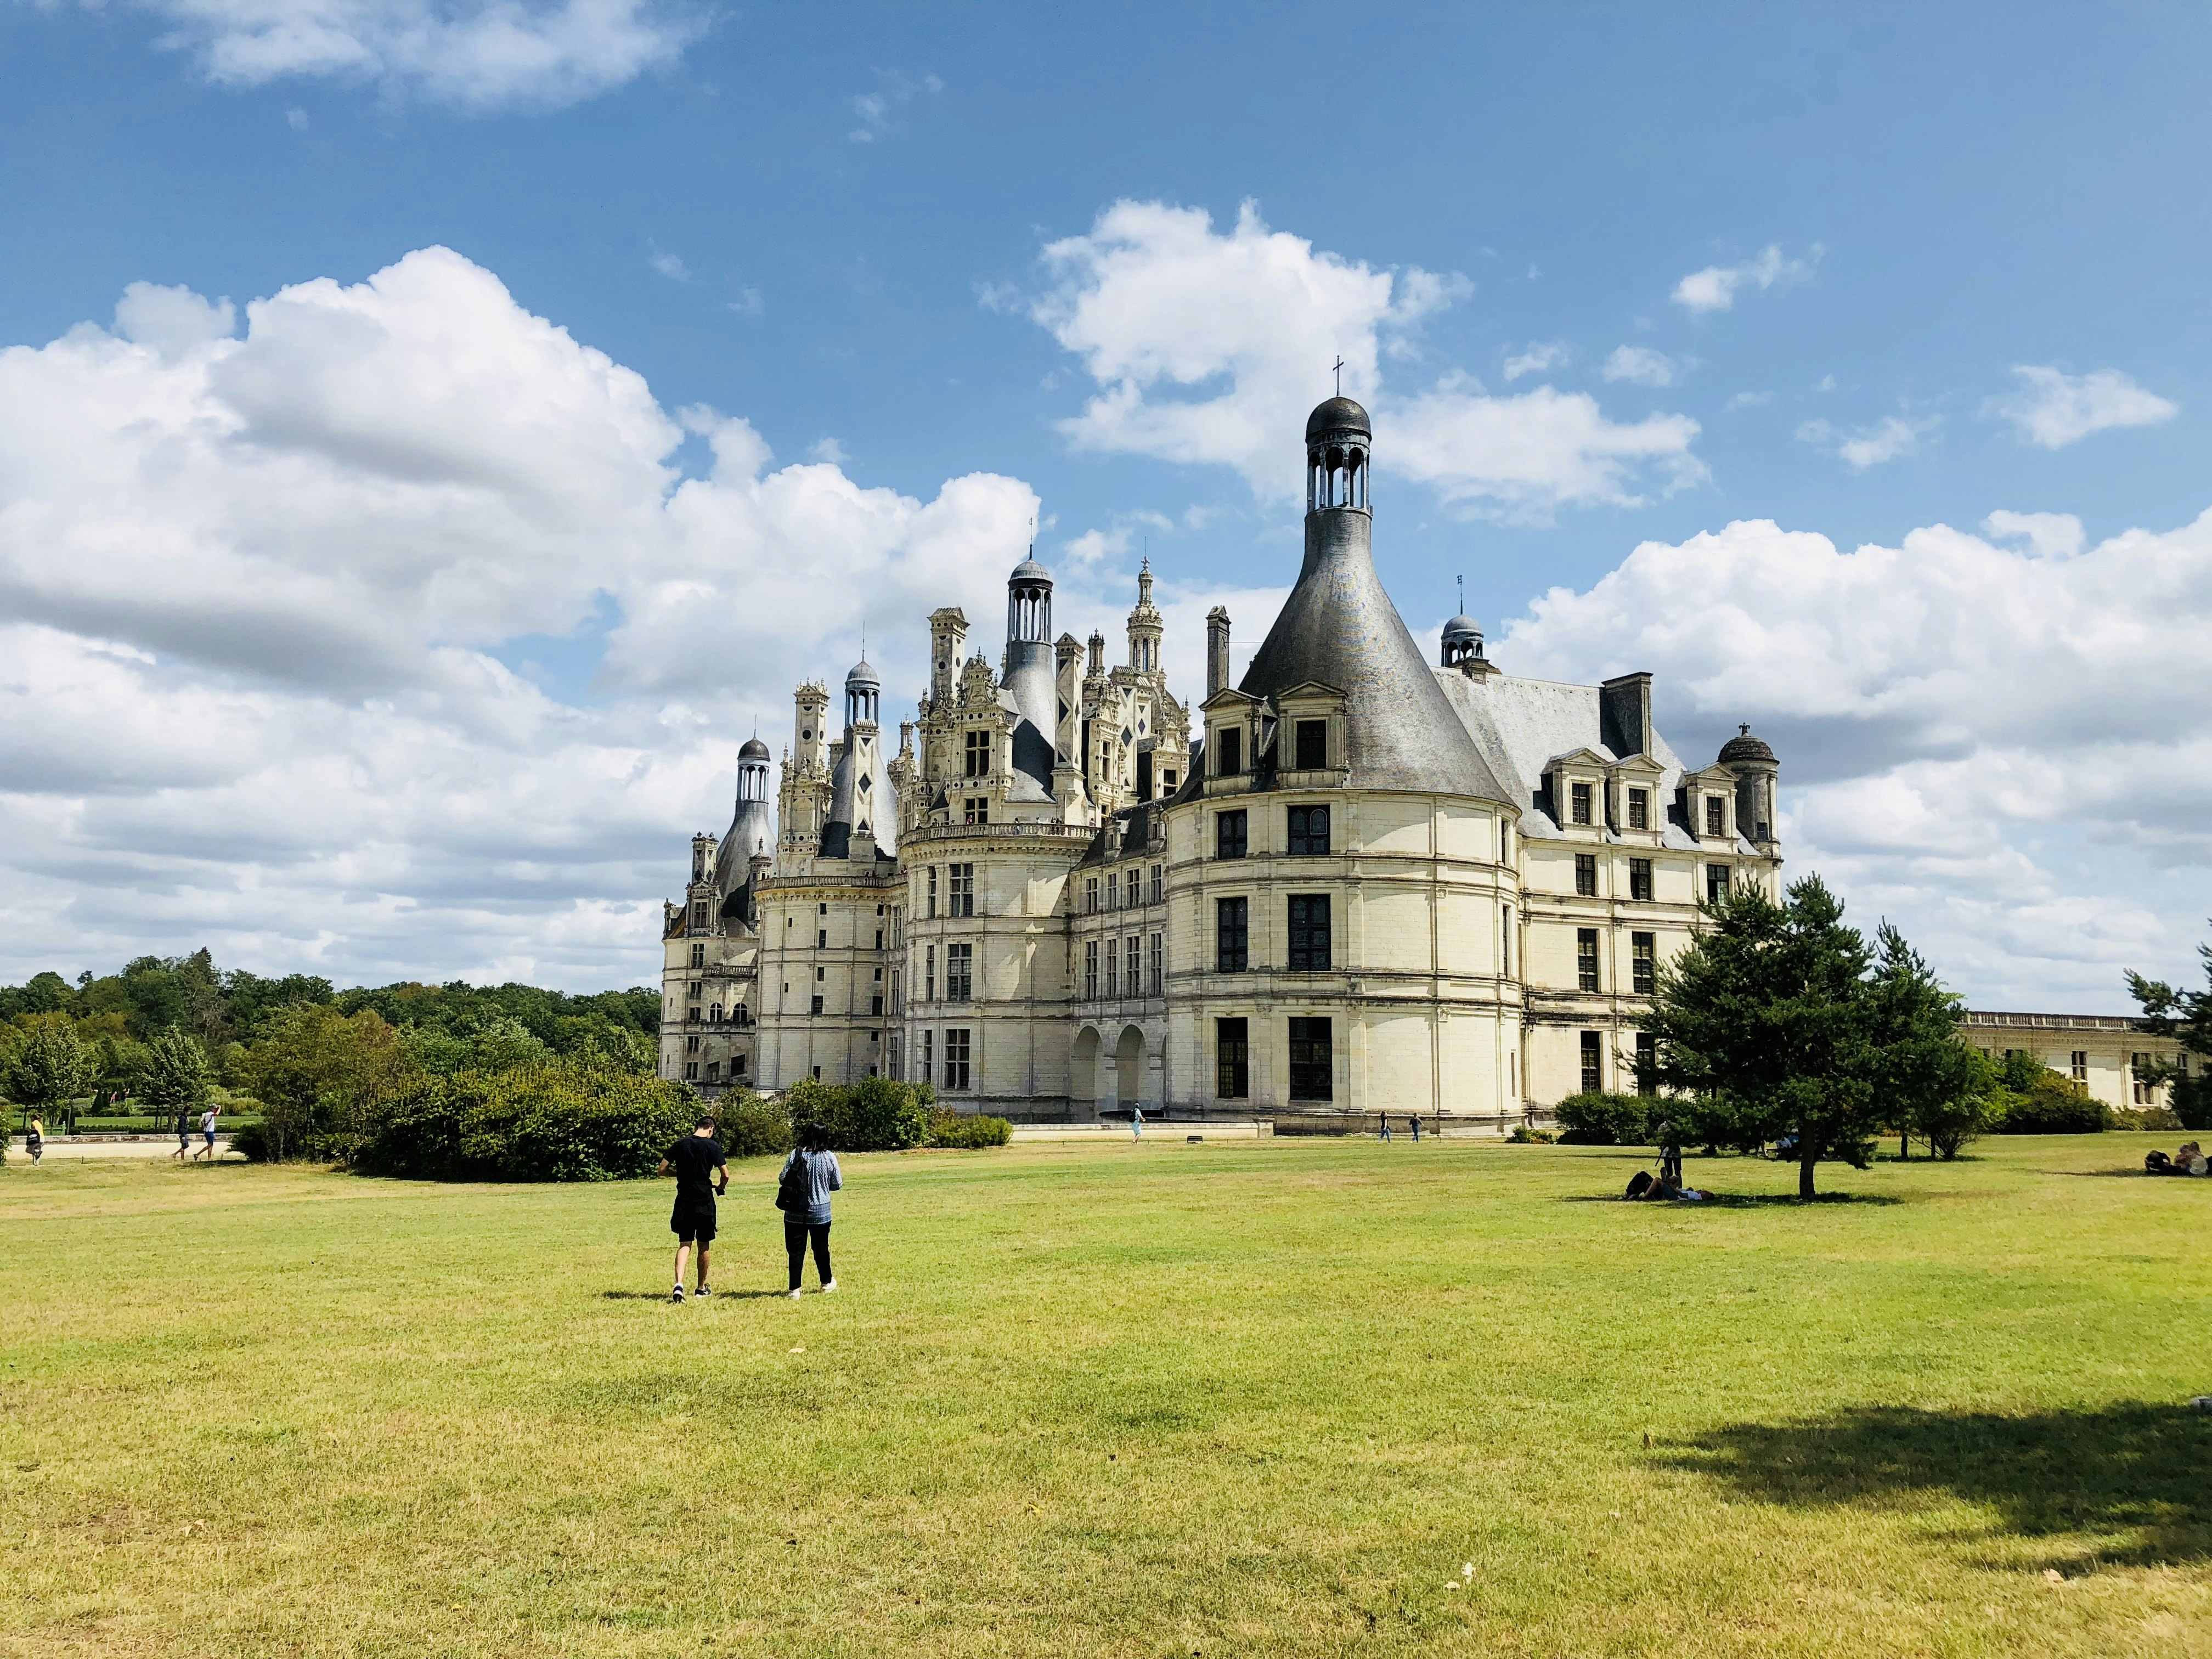
<path fill-rule="evenodd" d="M 1298 582 L 1237 686 L 1214 608 L 1194 714 L 1150 568 L 1108 668 L 1099 635 L 1053 639 L 1033 557 L 995 672 L 960 611 L 929 617 L 896 754 L 867 661 L 836 739 L 801 686 L 774 814 L 752 739 L 728 834 L 692 838 L 664 907 L 664 1075 L 1500 1130 L 1632 1088 L 1635 1013 L 1699 900 L 1778 891 L 1774 752 L 1745 730 L 1692 770 L 1650 675 L 1515 679 L 1464 615 L 1429 664 L 1376 577 L 1371 453 L 1358 403 L 1314 409 Z"/>

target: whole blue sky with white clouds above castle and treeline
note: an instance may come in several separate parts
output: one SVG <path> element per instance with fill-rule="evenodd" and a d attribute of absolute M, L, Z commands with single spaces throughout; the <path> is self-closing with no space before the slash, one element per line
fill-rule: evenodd
<path fill-rule="evenodd" d="M 1464 573 L 1509 670 L 1655 668 L 1683 750 L 1759 723 L 1801 792 L 1794 847 L 1918 925 L 1980 1002 L 2112 1009 L 2126 964 L 2192 971 L 2212 911 L 2212 757 L 2181 730 L 2212 690 L 2185 644 L 2212 604 L 2203 7 L 522 15 L 0 9 L 18 411 L 82 398 L 104 434 L 84 445 L 128 449 L 212 398 L 177 431 L 232 422 L 252 447 L 208 449 L 204 473 L 128 449 L 55 482 L 15 445 L 9 611 L 60 653 L 73 708 L 115 699 L 146 730 L 9 757 L 13 967 L 206 938 L 338 978 L 641 978 L 684 836 L 728 810 L 730 730 L 759 708 L 781 732 L 796 672 L 841 672 L 863 624 L 918 635 L 931 580 L 989 615 L 1024 491 L 1068 615 L 1113 633 L 1148 538 L 1192 615 L 1239 595 L 1256 644 L 1296 557 L 1298 418 L 1343 352 L 1396 465 L 1378 560 L 1416 630 Z M 343 299 L 431 248 L 458 261 L 418 265 L 405 299 Z M 210 321 L 159 296 L 128 321 L 133 283 L 190 290 Z M 476 332 L 436 345 L 462 288 Z M 248 303 L 288 290 L 307 321 L 263 336 Z M 352 356 L 341 312 L 405 349 Z M 582 356 L 518 367 L 538 319 Z M 469 347 L 498 367 L 462 396 L 445 365 Z M 580 376 L 611 376 L 604 396 L 549 389 Z M 363 387 L 374 409 L 341 407 Z M 582 500 L 608 453 L 628 462 Z M 226 471 L 246 462 L 279 491 L 250 529 Z M 971 476 L 1000 482 L 947 493 Z M 498 500 L 458 529 L 429 498 L 392 509 L 425 478 Z M 834 524 L 792 504 L 832 484 Z M 323 489 L 325 529 L 288 529 L 281 502 Z M 1783 535 L 1730 540 L 1756 520 Z M 102 553 L 155 557 L 179 522 L 159 568 Z M 843 549 L 818 566 L 841 575 L 761 586 L 763 564 L 807 568 L 807 538 Z M 1639 564 L 1646 542 L 1692 551 Z M 1893 555 L 1887 580 L 1860 546 Z M 246 591 L 181 626 L 190 599 L 146 595 L 195 573 Z M 279 661 L 246 635 L 321 644 Z M 911 699 L 918 653 L 887 655 Z M 383 754 L 407 721 L 416 759 Z M 175 732 L 221 737 L 148 772 Z M 604 794 L 531 794 L 524 768 L 577 774 L 568 745 Z M 407 765 L 451 774 L 392 816 Z M 502 843 L 498 803 L 456 805 L 467 779 L 531 823 Z M 330 805 L 347 787 L 385 816 Z M 241 878 L 226 810 L 303 827 L 257 841 Z M 146 852 L 133 825 L 164 814 L 208 854 Z M 128 891 L 93 900 L 93 869 Z"/>

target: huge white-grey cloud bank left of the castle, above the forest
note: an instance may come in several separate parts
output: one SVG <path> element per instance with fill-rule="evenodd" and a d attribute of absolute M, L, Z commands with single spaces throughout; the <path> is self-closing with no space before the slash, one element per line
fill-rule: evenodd
<path fill-rule="evenodd" d="M 199 942 L 650 978 L 754 710 L 772 737 L 863 626 L 918 688 L 918 619 L 995 615 L 1037 513 L 779 469 L 438 248 L 243 334 L 179 290 L 117 312 L 0 352 L 0 980 Z M 602 630 L 582 706 L 502 664 Z"/>

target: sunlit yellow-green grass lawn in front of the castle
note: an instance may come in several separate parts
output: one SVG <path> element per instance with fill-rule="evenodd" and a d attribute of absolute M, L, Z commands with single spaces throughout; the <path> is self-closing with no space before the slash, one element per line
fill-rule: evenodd
<path fill-rule="evenodd" d="M 684 1307 L 668 1183 L 18 1155 L 0 1655 L 2212 1655 L 2172 1139 L 849 1157 L 799 1303 L 748 1164 Z"/>

